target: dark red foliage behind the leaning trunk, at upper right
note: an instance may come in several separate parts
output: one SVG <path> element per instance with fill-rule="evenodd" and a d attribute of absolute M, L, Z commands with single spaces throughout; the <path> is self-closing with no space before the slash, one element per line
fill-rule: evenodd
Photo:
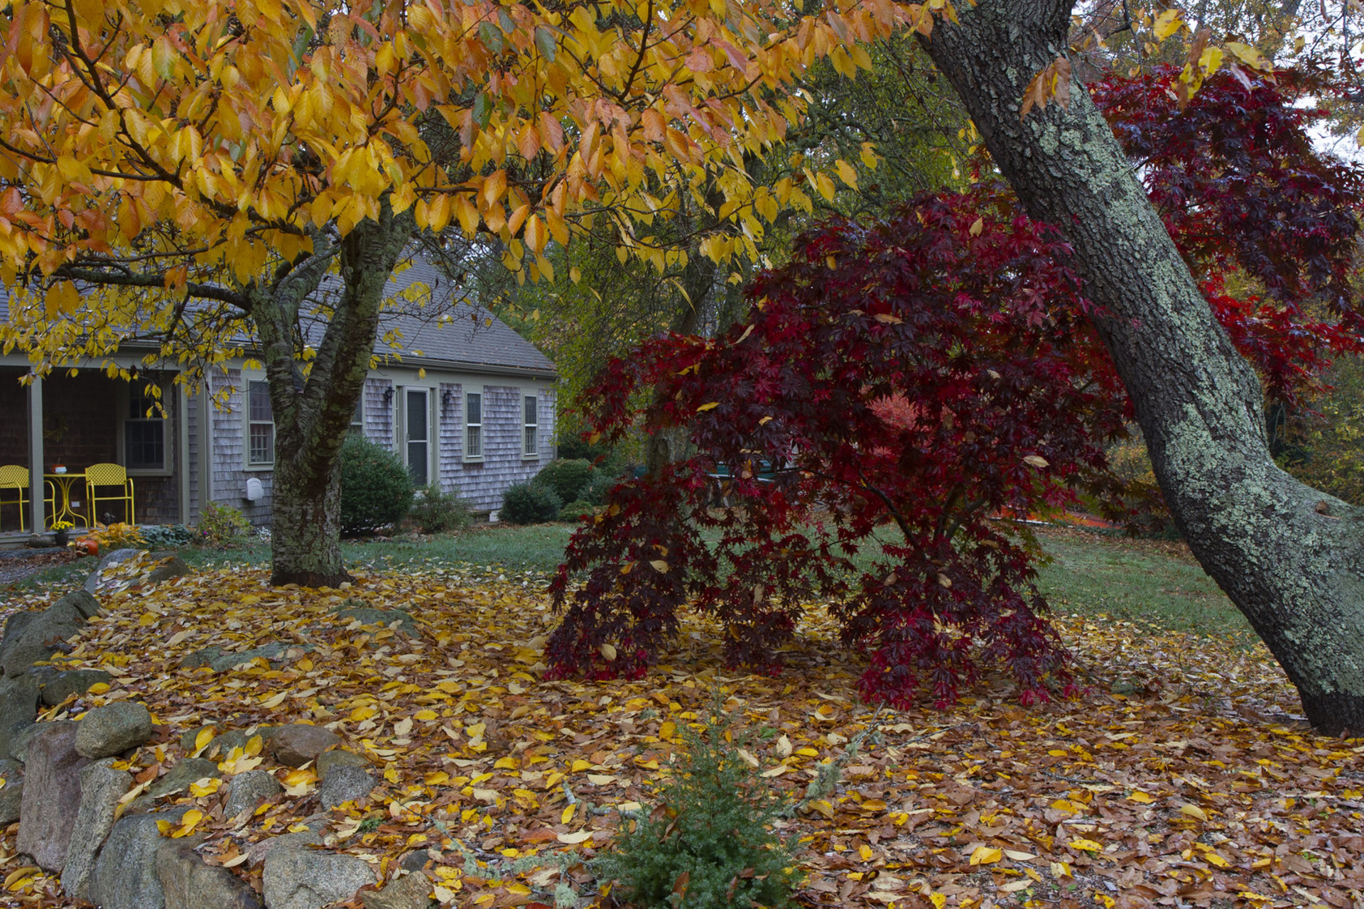
<path fill-rule="evenodd" d="M 1364 173 L 1312 149 L 1307 129 L 1326 114 L 1293 104 L 1330 94 L 1330 83 L 1237 72 L 1209 79 L 1183 112 L 1173 67 L 1105 79 L 1091 94 L 1204 278 L 1218 319 L 1264 376 L 1267 394 L 1293 405 L 1318 388 L 1330 354 L 1361 350 L 1350 282 Z M 1264 301 L 1229 296 L 1224 277 L 1233 271 L 1251 278 Z M 1334 319 L 1309 318 L 1312 309 Z"/>

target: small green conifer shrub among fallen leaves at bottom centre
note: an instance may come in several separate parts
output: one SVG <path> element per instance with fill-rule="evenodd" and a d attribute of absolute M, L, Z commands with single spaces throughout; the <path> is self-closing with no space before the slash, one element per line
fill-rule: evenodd
<path fill-rule="evenodd" d="M 784 803 L 739 756 L 742 737 L 727 741 L 727 732 L 719 703 L 700 733 L 682 728 L 686 750 L 663 789 L 660 810 L 638 812 L 634 830 L 622 827 L 618 845 L 591 863 L 592 872 L 618 882 L 632 904 L 791 905 L 801 875 L 768 829 Z"/>

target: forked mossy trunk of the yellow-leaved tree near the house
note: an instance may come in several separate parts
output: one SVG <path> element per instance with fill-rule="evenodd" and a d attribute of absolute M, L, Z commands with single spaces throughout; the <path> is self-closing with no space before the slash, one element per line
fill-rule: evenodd
<path fill-rule="evenodd" d="M 411 211 L 356 225 L 340 247 L 318 252 L 254 289 L 251 316 L 274 414 L 270 583 L 334 587 L 351 579 L 341 559 L 337 461 L 374 356 L 383 288 L 413 236 Z M 341 286 L 316 356 L 304 372 L 300 309 L 333 256 Z M 307 313 L 301 313 L 304 320 Z"/>

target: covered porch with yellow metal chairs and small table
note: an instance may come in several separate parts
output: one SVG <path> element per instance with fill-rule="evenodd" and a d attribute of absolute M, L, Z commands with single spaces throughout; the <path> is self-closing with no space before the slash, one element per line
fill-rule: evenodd
<path fill-rule="evenodd" d="M 153 378 L 164 410 L 146 395 L 146 379 L 74 369 L 25 386 L 25 375 L 23 367 L 0 365 L 0 470 L 29 474 L 22 521 L 20 491 L 0 488 L 0 545 L 50 531 L 59 519 L 78 531 L 109 521 L 187 522 L 187 407 L 169 375 Z M 101 484 L 91 502 L 86 470 L 94 465 L 115 467 L 90 474 Z M 117 499 L 130 492 L 131 510 Z"/>

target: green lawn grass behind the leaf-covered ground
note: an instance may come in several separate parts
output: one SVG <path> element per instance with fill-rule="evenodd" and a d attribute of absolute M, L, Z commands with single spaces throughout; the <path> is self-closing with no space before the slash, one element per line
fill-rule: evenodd
<path fill-rule="evenodd" d="M 484 571 L 550 572 L 573 533 L 570 525 L 516 527 L 492 525 L 424 540 L 360 540 L 341 544 L 348 567 L 393 571 L 416 566 L 471 564 Z M 1038 586 L 1057 612 L 1109 615 L 1143 620 L 1174 631 L 1244 638 L 1254 631 L 1178 544 L 1144 542 L 1080 530 L 1038 534 L 1049 561 L 1039 567 Z M 869 549 L 866 551 L 870 552 Z M 194 567 L 267 564 L 270 546 L 254 541 L 229 551 L 187 548 L 181 557 Z M 868 557 L 863 555 L 862 557 Z M 44 570 L 14 590 L 38 583 L 78 585 L 90 561 Z M 0 589 L 0 605 L 8 598 Z"/>

